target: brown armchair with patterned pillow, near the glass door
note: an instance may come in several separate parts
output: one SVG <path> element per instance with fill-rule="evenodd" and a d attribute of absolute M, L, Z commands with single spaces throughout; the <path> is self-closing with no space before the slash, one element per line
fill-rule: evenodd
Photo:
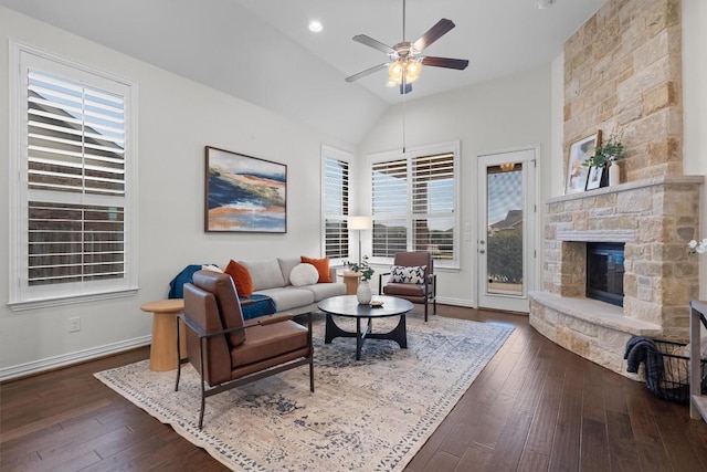
<path fill-rule="evenodd" d="M 424 321 L 428 321 L 428 306 L 432 303 L 432 314 L 437 313 L 436 301 L 436 275 L 434 274 L 434 261 L 432 254 L 426 251 L 415 252 L 398 252 L 393 258 L 393 266 L 402 268 L 422 268 L 424 266 L 423 276 L 416 277 L 413 274 L 412 277 L 401 281 L 395 281 L 395 273 L 386 272 L 378 276 L 378 294 L 397 296 L 399 298 L 405 298 L 412 303 L 424 304 Z M 404 272 L 404 271 L 402 271 Z M 383 276 L 392 275 L 386 284 L 383 284 Z M 400 274 L 398 274 L 400 275 Z M 419 280 L 414 280 L 419 279 Z"/>

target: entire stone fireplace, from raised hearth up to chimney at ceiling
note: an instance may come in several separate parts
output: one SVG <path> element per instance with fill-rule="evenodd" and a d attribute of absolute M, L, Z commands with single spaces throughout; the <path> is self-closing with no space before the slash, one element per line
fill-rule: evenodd
<path fill-rule="evenodd" d="M 542 291 L 530 324 L 619 374 L 635 335 L 686 339 L 698 295 L 701 176 L 683 171 L 680 0 L 611 0 L 564 43 L 564 156 L 601 130 L 621 136 L 614 187 L 546 201 Z M 587 298 L 587 243 L 624 244 L 623 307 Z M 637 377 L 636 377 L 637 378 Z"/>

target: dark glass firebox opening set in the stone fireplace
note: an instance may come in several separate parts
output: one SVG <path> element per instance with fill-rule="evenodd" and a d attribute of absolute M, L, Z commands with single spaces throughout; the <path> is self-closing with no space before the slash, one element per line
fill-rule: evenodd
<path fill-rule="evenodd" d="M 623 243 L 587 243 L 587 297 L 623 306 Z"/>

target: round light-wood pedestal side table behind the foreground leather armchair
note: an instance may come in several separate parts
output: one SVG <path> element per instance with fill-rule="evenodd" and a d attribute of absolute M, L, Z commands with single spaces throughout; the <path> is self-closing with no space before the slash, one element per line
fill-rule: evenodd
<path fill-rule="evenodd" d="M 177 315 L 184 310 L 183 298 L 159 300 L 140 306 L 152 313 L 152 344 L 150 346 L 150 370 L 165 371 L 177 368 Z M 179 323 L 179 357 L 187 355 L 187 335 L 183 323 Z"/>

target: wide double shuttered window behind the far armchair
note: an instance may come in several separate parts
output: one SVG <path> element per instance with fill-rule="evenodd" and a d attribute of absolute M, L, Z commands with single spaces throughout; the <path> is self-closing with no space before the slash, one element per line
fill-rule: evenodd
<path fill-rule="evenodd" d="M 371 159 L 373 258 L 430 251 L 441 266 L 458 265 L 457 149 L 443 145 Z"/>

